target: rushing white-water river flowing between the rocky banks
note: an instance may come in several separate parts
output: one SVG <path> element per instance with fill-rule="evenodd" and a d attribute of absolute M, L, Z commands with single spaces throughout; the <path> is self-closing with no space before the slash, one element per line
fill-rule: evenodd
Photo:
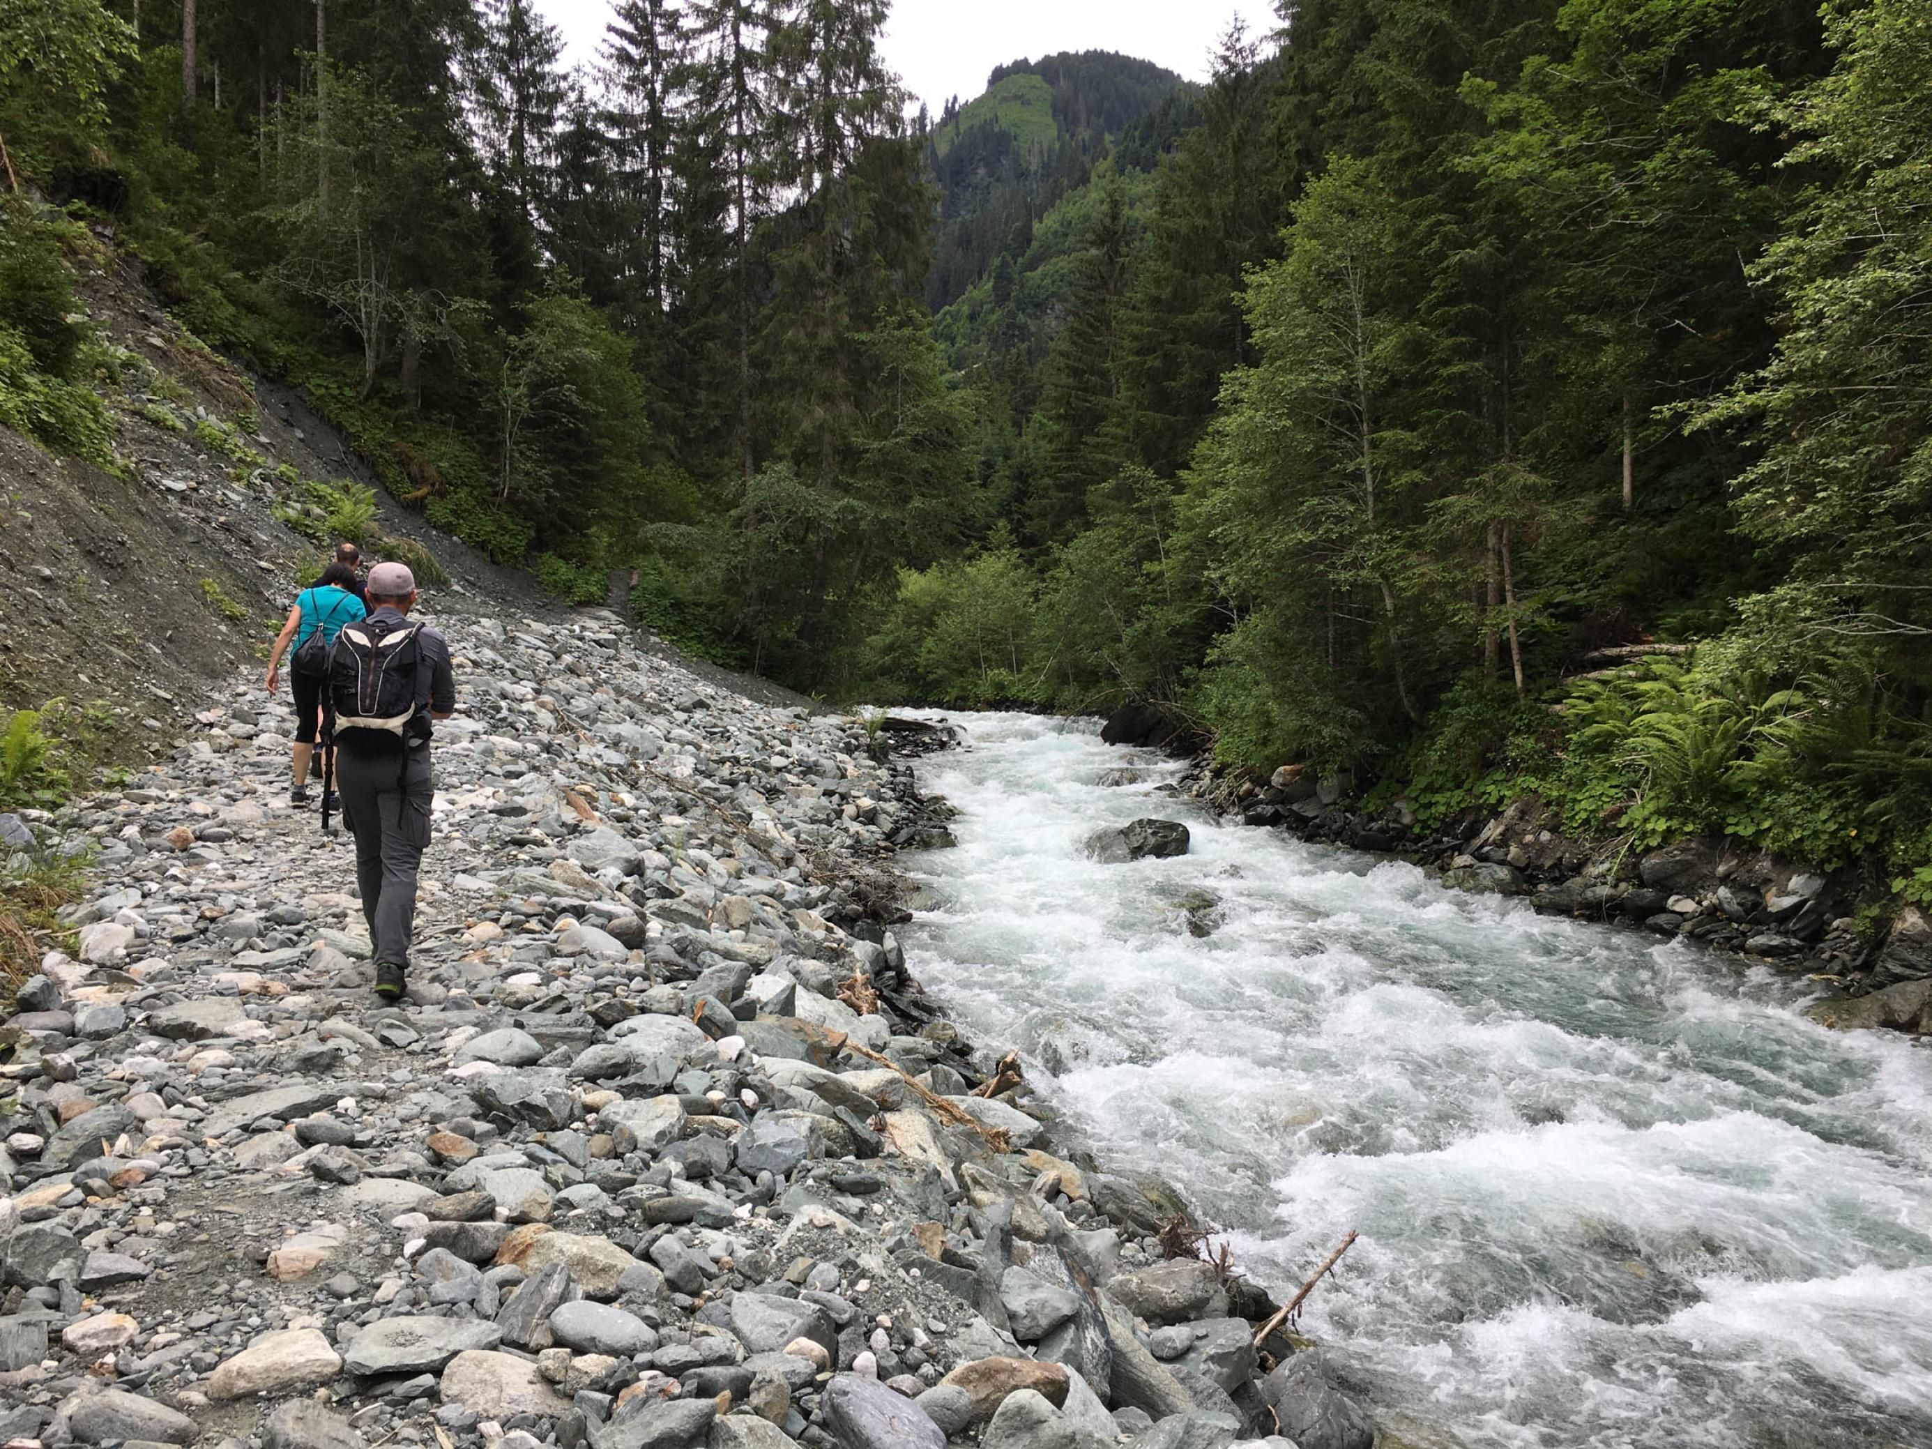
<path fill-rule="evenodd" d="M 1310 1298 L 1430 1443 L 1932 1445 L 1932 1051 L 1804 983 L 1217 827 L 1092 728 L 949 717 L 914 970 L 1103 1161 L 1163 1173 Z M 1140 784 L 1103 788 L 1109 769 Z M 1188 856 L 1080 842 L 1184 819 Z M 1186 891 L 1219 896 L 1208 937 Z M 1412 1432 L 1412 1430 L 1410 1430 Z M 1418 1435 L 1420 1437 L 1420 1435 Z"/>

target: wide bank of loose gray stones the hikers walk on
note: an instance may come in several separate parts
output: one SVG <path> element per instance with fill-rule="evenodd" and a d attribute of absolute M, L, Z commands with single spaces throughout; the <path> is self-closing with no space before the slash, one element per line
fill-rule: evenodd
<path fill-rule="evenodd" d="M 404 1007 L 253 674 L 23 817 L 95 885 L 0 1026 L 0 1441 L 1368 1449 L 1173 1188 L 922 1001 L 891 850 L 943 811 L 877 740 L 614 616 L 431 622 Z"/>

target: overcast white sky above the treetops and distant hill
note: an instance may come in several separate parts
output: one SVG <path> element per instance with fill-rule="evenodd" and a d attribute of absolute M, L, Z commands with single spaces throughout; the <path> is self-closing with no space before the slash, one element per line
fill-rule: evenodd
<path fill-rule="evenodd" d="M 609 0 L 539 0 L 570 43 L 570 60 L 597 54 Z M 972 100 L 993 66 L 1057 50 L 1119 50 L 1188 79 L 1235 15 L 1248 31 L 1277 25 L 1273 0 L 895 0 L 885 56 L 933 114 L 947 97 Z"/>

